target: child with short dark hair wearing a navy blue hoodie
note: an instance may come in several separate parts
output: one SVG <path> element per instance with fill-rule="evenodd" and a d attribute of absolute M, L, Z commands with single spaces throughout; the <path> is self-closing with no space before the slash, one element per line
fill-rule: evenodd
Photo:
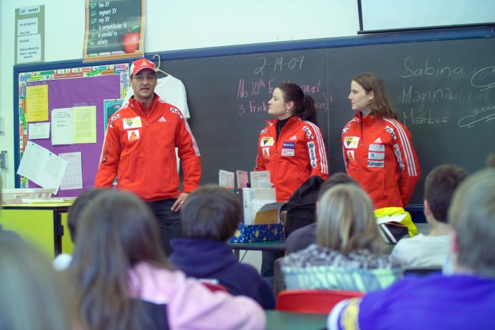
<path fill-rule="evenodd" d="M 239 225 L 241 203 L 214 184 L 201 186 L 181 209 L 184 238 L 171 241 L 170 263 L 188 277 L 214 280 L 234 296 L 248 296 L 274 309 L 273 290 L 251 265 L 239 263 L 227 242 Z"/>

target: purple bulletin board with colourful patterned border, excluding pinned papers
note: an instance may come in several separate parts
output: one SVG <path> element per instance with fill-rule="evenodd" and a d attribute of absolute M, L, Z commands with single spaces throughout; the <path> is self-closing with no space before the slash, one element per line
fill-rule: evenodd
<path fill-rule="evenodd" d="M 40 67 L 43 67 L 41 65 Z M 113 106 L 113 102 L 124 98 L 128 85 L 129 64 L 111 63 L 106 65 L 82 66 L 76 63 L 63 63 L 63 68 L 36 70 L 35 66 L 19 68 L 17 79 L 18 95 L 14 92 L 14 102 L 18 104 L 18 115 L 14 115 L 17 129 L 15 162 L 19 164 L 28 141 L 47 148 L 55 155 L 61 153 L 80 152 L 83 188 L 58 190 L 56 197 L 76 197 L 81 192 L 94 186 L 94 178 L 98 170 L 104 133 L 107 126 L 107 111 L 105 107 Z M 50 137 L 30 140 L 30 124 L 37 123 L 29 120 L 26 109 L 26 98 L 29 87 L 47 85 L 48 117 L 43 122 L 52 122 L 54 109 L 94 106 L 96 107 L 96 143 L 52 144 L 52 127 Z M 17 100 L 17 101 L 16 101 Z M 42 122 L 42 121 L 40 121 Z M 17 188 L 40 188 L 26 177 L 17 175 Z"/>

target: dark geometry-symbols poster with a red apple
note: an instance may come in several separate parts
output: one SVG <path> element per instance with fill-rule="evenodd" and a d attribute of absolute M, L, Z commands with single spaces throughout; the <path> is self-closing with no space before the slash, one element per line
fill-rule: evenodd
<path fill-rule="evenodd" d="M 145 0 L 86 0 L 83 61 L 144 56 Z"/>

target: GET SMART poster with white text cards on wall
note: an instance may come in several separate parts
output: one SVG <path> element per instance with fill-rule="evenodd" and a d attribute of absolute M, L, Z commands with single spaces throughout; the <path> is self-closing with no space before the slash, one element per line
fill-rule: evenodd
<path fill-rule="evenodd" d="M 15 11 L 15 64 L 45 62 L 45 6 Z"/>

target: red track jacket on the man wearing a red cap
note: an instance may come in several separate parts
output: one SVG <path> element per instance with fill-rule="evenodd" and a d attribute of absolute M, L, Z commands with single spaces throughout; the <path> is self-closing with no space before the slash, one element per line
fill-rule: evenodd
<path fill-rule="evenodd" d="M 142 102 L 129 99 L 109 120 L 95 187 L 111 187 L 117 175 L 117 188 L 145 201 L 177 197 L 176 146 L 184 172 L 183 191 L 192 192 L 199 186 L 201 162 L 184 115 L 157 94 L 147 111 Z"/>

